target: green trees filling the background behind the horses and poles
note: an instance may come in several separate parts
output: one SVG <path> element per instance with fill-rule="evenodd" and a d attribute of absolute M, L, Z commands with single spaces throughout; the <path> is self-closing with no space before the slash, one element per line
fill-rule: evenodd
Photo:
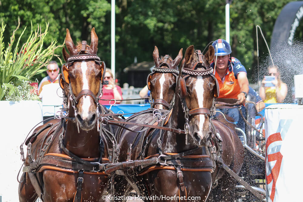
<path fill-rule="evenodd" d="M 238 58 L 248 70 L 250 81 L 255 81 L 256 72 L 256 25 L 262 28 L 267 42 L 270 42 L 275 20 L 281 9 L 292 0 L 233 0 L 230 5 L 230 41 L 232 55 Z M 90 41 L 90 31 L 95 27 L 99 37 L 98 55 L 107 67 L 111 64 L 111 1 L 110 0 L 25 0 L 1 1 L 0 21 L 5 22 L 8 33 L 16 28 L 18 16 L 22 25 L 45 25 L 49 22 L 50 34 L 45 44 L 52 38 L 64 43 L 66 28 L 76 40 Z M 160 55 L 175 57 L 178 51 L 189 45 L 201 49 L 218 38 L 225 38 L 224 0 L 116 0 L 115 66 L 120 83 L 126 81 L 123 69 L 138 62 L 152 61 L 152 51 L 157 45 Z M 44 28 L 44 27 L 42 27 Z M 9 34 L 4 33 L 6 43 Z M 20 35 L 22 30 L 17 30 Z M 24 35 L 28 36 L 29 30 Z M 260 58 L 268 54 L 261 36 Z M 46 48 L 46 47 L 45 47 Z M 55 54 L 62 58 L 61 50 Z"/>

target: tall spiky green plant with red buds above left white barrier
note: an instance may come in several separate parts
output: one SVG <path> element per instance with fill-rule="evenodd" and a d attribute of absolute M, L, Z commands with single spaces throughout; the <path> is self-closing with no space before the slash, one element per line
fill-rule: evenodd
<path fill-rule="evenodd" d="M 34 75 L 44 71 L 41 68 L 45 67 L 53 56 L 57 57 L 62 63 L 59 56 L 54 54 L 54 51 L 56 48 L 63 47 L 63 45 L 56 46 L 57 41 L 52 39 L 51 44 L 47 48 L 43 46 L 43 40 L 48 33 L 48 23 L 44 32 L 42 32 L 39 25 L 33 31 L 31 23 L 31 33 L 20 48 L 20 51 L 19 44 L 22 41 L 21 38 L 26 27 L 18 40 L 16 40 L 15 33 L 19 26 L 20 19 L 18 19 L 18 26 L 13 31 L 6 48 L 4 44 L 6 25 L 2 22 L 0 28 L 0 100 L 5 100 L 5 94 L 7 96 L 11 96 L 14 93 L 20 94 L 21 91 L 19 89 L 24 88 L 25 83 L 27 83 L 25 81 L 30 81 Z"/>

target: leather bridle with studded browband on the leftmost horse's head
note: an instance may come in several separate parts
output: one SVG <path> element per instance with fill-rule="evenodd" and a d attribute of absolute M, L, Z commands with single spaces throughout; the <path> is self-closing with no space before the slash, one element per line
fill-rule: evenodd
<path fill-rule="evenodd" d="M 68 84 L 69 101 L 75 110 L 75 117 L 76 117 L 77 111 L 78 111 L 76 108 L 76 104 L 78 104 L 81 97 L 90 96 L 94 100 L 96 105 L 99 103 L 99 99 L 102 96 L 102 82 L 104 81 L 104 75 L 105 75 L 105 71 L 104 71 L 105 62 L 101 61 L 101 59 L 98 57 L 98 55 L 92 54 L 89 50 L 85 50 L 86 44 L 87 44 L 86 41 L 82 41 L 81 44 L 82 44 L 82 49 L 78 52 L 78 54 L 70 56 L 67 59 L 67 62 L 62 65 L 62 67 L 61 67 L 62 76 L 60 77 L 60 79 L 63 79 L 63 81 Z M 102 74 L 100 77 L 99 90 L 98 90 L 97 95 L 95 95 L 91 90 L 84 89 L 84 90 L 80 91 L 80 93 L 76 97 L 72 91 L 72 85 L 70 82 L 70 78 L 68 76 L 68 67 L 72 66 L 75 61 L 84 61 L 84 60 L 94 60 L 95 63 L 100 65 Z M 64 86 L 61 85 L 61 82 L 60 82 L 60 86 L 62 89 L 64 89 Z M 63 96 L 64 96 L 63 100 L 65 102 L 64 104 L 66 106 L 68 106 L 68 99 L 66 98 L 64 92 L 63 92 Z M 97 108 L 97 111 L 98 111 L 98 108 Z"/>

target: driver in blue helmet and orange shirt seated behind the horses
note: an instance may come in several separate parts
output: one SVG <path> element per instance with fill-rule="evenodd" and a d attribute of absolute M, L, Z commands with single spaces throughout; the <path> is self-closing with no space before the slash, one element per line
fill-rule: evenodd
<path fill-rule="evenodd" d="M 249 91 L 245 67 L 237 58 L 231 57 L 231 47 L 224 39 L 217 39 L 213 42 L 212 46 L 215 48 L 215 58 L 211 63 L 211 67 L 214 68 L 214 75 L 220 87 L 218 98 L 234 98 L 237 99 L 240 104 L 244 104 Z M 242 105 L 241 108 L 244 117 L 246 117 L 244 106 Z M 217 110 L 233 118 L 234 123 L 245 131 L 245 122 L 238 108 L 223 108 Z M 215 117 L 218 116 L 220 116 L 220 113 L 215 114 Z"/>

